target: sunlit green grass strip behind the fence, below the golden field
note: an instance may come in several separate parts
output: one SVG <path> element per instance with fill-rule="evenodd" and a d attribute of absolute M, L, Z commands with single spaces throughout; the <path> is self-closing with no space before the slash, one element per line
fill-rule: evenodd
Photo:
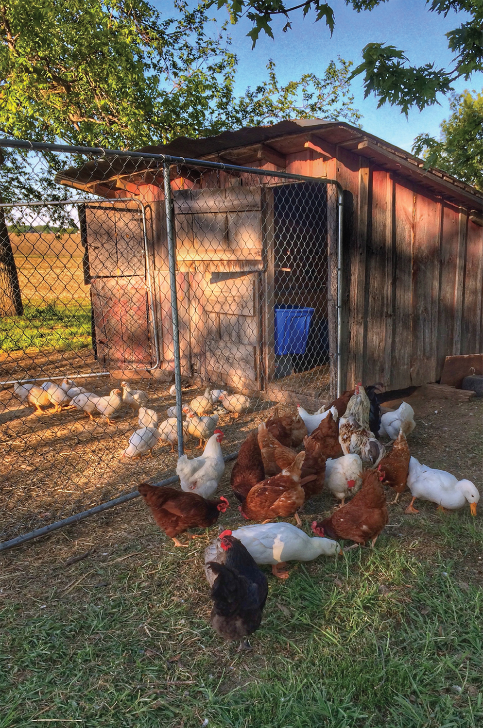
<path fill-rule="evenodd" d="M 27 349 L 65 352 L 91 344 L 89 303 L 27 304 L 23 316 L 0 320 L 0 349 L 3 352 Z"/>

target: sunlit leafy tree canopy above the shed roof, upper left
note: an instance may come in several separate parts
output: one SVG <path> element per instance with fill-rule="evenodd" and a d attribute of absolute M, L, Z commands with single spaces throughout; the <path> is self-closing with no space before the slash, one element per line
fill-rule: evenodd
<path fill-rule="evenodd" d="M 0 4 L 0 130 L 35 141 L 136 149 L 294 116 L 357 122 L 350 63 L 235 95 L 237 58 L 207 2 L 165 18 L 144 0 Z"/>

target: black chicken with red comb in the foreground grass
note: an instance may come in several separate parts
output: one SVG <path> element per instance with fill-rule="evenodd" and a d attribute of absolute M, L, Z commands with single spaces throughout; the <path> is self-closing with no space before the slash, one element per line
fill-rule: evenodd
<path fill-rule="evenodd" d="M 223 531 L 205 550 L 205 572 L 213 599 L 213 629 L 228 641 L 254 633 L 267 601 L 267 577 L 232 531 Z M 248 640 L 243 647 L 250 648 Z"/>

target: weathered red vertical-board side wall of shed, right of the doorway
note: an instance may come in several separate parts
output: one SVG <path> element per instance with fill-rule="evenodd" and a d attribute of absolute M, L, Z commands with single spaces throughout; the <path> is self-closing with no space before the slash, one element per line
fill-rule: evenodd
<path fill-rule="evenodd" d="M 482 348 L 483 229 L 467 210 L 390 170 L 361 159 L 356 182 L 338 165 L 353 203 L 342 388 L 437 381 L 447 355 Z"/>

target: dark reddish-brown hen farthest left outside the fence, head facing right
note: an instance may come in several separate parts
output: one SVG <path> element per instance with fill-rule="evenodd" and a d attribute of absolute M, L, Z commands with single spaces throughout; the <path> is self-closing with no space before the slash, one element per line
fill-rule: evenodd
<path fill-rule="evenodd" d="M 206 500 L 197 493 L 151 486 L 149 483 L 140 483 L 138 491 L 149 507 L 154 521 L 173 539 L 176 546 L 187 546 L 180 543 L 176 536 L 187 529 L 208 529 L 218 521 L 220 513 L 224 513 L 229 507 L 224 496 L 216 500 Z M 188 537 L 193 538 L 191 534 Z"/>

